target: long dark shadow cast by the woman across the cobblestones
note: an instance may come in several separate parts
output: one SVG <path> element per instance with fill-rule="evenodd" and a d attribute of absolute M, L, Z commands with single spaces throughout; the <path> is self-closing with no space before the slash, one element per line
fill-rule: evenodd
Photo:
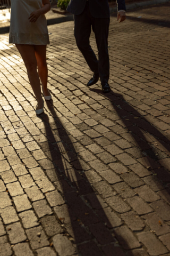
<path fill-rule="evenodd" d="M 52 116 L 43 114 L 41 118 L 48 141 L 43 142 L 41 147 L 51 162 L 43 167 L 56 189 L 47 193 L 46 197 L 64 228 L 61 233 L 68 235 L 74 247 L 69 239 L 63 239 L 63 235 L 55 235 L 55 232 L 48 234 L 45 225 L 47 235 L 53 237 L 54 247 L 59 254 L 61 247 L 58 241 L 63 243 L 62 255 L 76 253 L 76 247 L 78 255 L 82 256 L 125 256 L 113 232 L 114 228 L 122 225 L 122 220 L 92 187 L 92 184 L 101 182 L 100 175 L 79 157 L 79 152 L 87 149 L 66 131 L 69 125 L 55 110 L 53 103 L 47 102 L 47 110 Z M 40 161 L 40 164 L 43 163 Z M 113 189 L 111 195 L 116 195 Z M 50 221 L 50 217 L 46 218 Z M 131 249 L 126 241 L 121 241 L 125 248 Z"/>

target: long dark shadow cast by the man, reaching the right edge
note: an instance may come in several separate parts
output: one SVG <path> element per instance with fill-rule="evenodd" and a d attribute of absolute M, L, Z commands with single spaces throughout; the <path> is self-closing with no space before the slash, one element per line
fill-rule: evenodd
<path fill-rule="evenodd" d="M 145 167 L 145 169 L 141 169 L 141 165 L 134 164 L 129 166 L 130 169 L 169 204 L 170 141 L 168 134 L 166 136 L 149 123 L 145 116 L 142 116 L 138 110 L 125 101 L 123 95 L 113 91 L 103 94 L 99 89 L 91 89 L 91 91 L 105 95 L 111 101 L 113 108 L 111 115 L 117 115 L 116 122 L 125 129 L 123 138 L 134 146 L 134 148 L 126 148 L 126 153 L 137 158 L 138 162 Z M 166 203 L 162 201 L 161 205 L 166 209 Z M 157 208 L 154 209 L 160 213 Z"/>

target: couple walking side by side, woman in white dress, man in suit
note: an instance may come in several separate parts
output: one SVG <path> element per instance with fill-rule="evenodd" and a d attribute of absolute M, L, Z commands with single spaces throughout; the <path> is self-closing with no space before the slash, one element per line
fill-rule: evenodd
<path fill-rule="evenodd" d="M 125 20 L 125 0 L 117 0 L 117 9 L 117 20 L 122 22 Z M 9 42 L 16 45 L 27 68 L 29 81 L 37 99 L 37 115 L 44 112 L 40 81 L 44 98 L 46 100 L 52 98 L 47 88 L 46 49 L 49 36 L 44 15 L 49 10 L 49 0 L 11 0 Z M 74 14 L 74 36 L 77 46 L 94 73 L 87 86 L 96 84 L 100 78 L 103 92 L 111 91 L 108 84 L 108 0 L 71 0 L 67 11 Z M 91 27 L 96 37 L 98 60 L 89 42 Z"/>

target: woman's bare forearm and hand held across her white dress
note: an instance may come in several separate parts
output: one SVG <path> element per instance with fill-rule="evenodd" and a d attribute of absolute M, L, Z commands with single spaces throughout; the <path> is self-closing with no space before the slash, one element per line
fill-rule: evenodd
<path fill-rule="evenodd" d="M 50 6 L 49 0 L 42 0 L 42 3 L 43 3 L 43 7 L 41 7 L 40 9 L 30 14 L 30 17 L 29 17 L 30 22 L 36 22 L 41 14 L 45 14 L 50 11 L 51 6 Z"/>

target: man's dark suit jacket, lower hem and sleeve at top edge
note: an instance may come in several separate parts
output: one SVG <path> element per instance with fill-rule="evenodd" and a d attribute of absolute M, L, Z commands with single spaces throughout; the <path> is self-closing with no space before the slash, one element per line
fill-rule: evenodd
<path fill-rule="evenodd" d="M 90 13 L 95 18 L 109 18 L 110 11 L 108 0 L 88 0 Z M 126 10 L 125 0 L 116 0 L 117 9 Z M 86 6 L 87 0 L 70 0 L 67 7 L 67 11 L 73 13 L 74 15 L 79 15 L 83 12 Z"/>

